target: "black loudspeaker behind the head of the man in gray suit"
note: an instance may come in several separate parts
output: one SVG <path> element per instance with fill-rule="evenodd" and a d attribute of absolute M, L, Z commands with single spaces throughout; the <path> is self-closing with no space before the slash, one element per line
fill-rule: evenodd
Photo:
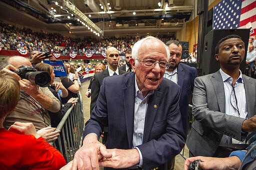
<path fill-rule="evenodd" d="M 244 73 L 245 58 L 249 39 L 249 29 L 213 29 L 209 31 L 204 37 L 204 48 L 202 56 L 200 57 L 201 75 L 214 73 L 220 68 L 219 62 L 214 58 L 215 46 L 221 38 L 231 34 L 240 36 L 244 42 L 244 59 L 240 64 L 240 70 L 242 73 Z"/>

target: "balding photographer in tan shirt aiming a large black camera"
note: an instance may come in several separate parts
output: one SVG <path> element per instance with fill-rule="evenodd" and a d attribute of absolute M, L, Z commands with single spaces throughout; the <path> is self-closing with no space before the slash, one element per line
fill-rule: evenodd
<path fill-rule="evenodd" d="M 5 58 L 1 61 L 0 68 L 9 72 L 13 67 L 8 64 L 11 64 L 16 69 L 23 65 L 32 67 L 31 63 L 21 56 Z M 47 87 L 39 87 L 26 79 L 18 80 L 20 84 L 20 99 L 14 110 L 5 118 L 4 127 L 8 129 L 16 121 L 33 123 L 37 133 L 47 142 L 56 139 L 59 131 L 54 132 L 55 128 L 50 128 L 48 111 L 58 112 L 60 110 L 59 100 L 54 97 Z"/>

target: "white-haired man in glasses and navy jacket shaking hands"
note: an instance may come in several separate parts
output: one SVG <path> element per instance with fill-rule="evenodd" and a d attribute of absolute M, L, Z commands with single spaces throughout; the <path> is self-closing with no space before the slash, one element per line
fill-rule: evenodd
<path fill-rule="evenodd" d="M 133 72 L 103 80 L 85 124 L 83 146 L 74 156 L 74 169 L 167 170 L 168 159 L 184 146 L 180 89 L 163 79 L 168 55 L 163 42 L 148 36 L 132 48 Z M 105 146 L 98 142 L 104 126 L 108 126 Z"/>

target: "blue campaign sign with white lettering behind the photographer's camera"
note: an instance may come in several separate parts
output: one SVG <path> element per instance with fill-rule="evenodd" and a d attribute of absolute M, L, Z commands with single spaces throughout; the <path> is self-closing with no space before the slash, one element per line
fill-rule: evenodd
<path fill-rule="evenodd" d="M 43 60 L 43 62 L 52 66 L 56 77 L 67 76 L 66 70 L 62 61 Z"/>

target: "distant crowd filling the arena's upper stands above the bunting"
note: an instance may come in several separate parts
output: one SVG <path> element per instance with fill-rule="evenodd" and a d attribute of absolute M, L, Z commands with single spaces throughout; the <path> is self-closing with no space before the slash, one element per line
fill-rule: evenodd
<path fill-rule="evenodd" d="M 62 55 L 93 53 L 101 55 L 110 46 L 115 47 L 120 55 L 130 49 L 139 36 L 104 37 L 104 38 L 71 38 L 59 33 L 45 31 L 35 32 L 29 28 L 18 28 L 10 24 L 0 22 L 0 47 L 6 50 L 26 49 L 30 51 L 50 51 Z M 175 39 L 171 35 L 159 35 L 163 42 Z"/>

